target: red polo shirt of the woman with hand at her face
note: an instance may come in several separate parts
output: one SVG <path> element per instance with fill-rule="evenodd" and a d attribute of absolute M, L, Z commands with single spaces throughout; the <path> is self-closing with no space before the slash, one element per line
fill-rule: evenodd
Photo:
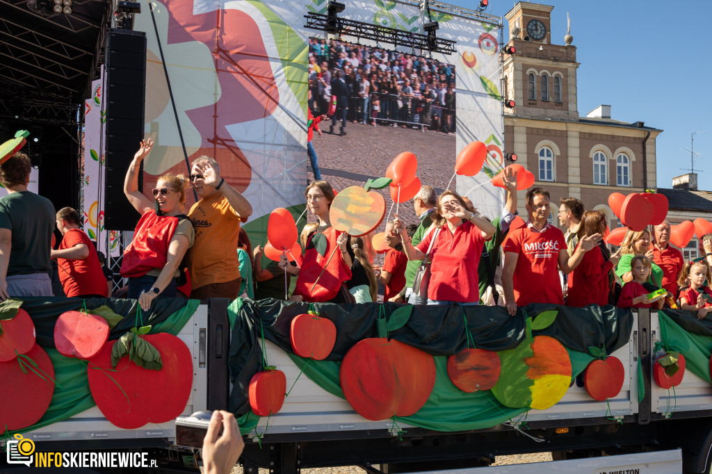
<path fill-rule="evenodd" d="M 417 245 L 426 253 L 435 231 Z M 431 250 L 428 297 L 431 300 L 472 302 L 480 299 L 477 267 L 485 240 L 482 231 L 465 222 L 452 233 L 447 224 L 440 229 Z"/>

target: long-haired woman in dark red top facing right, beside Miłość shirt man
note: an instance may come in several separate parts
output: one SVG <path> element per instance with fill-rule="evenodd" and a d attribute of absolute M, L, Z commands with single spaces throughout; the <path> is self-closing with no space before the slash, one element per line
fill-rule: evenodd
<path fill-rule="evenodd" d="M 606 216 L 599 211 L 587 211 L 581 218 L 578 240 L 595 233 L 606 231 Z M 581 263 L 569 275 L 567 306 L 607 305 L 609 288 L 613 284 L 613 268 L 620 259 L 620 251 L 613 255 L 600 241 L 598 249 L 594 248 L 584 254 Z"/>

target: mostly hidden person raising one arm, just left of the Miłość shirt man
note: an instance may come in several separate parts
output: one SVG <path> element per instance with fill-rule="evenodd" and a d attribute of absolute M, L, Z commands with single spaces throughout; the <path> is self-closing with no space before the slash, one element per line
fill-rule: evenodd
<path fill-rule="evenodd" d="M 477 267 L 481 305 L 488 304 L 489 297 L 485 295 L 487 288 L 492 289 L 491 297 L 493 298 L 494 304 L 497 304 L 499 300 L 499 293 L 496 290 L 496 283 L 499 283 L 500 286 L 502 285 L 501 273 L 499 278 L 497 278 L 496 275 L 497 268 L 501 261 L 499 249 L 509 233 L 510 224 L 517 215 L 517 175 L 511 168 L 505 168 L 502 181 L 507 189 L 507 199 L 502 214 L 492 221 L 495 227 L 495 233 L 490 240 L 485 241 L 480 263 Z"/>

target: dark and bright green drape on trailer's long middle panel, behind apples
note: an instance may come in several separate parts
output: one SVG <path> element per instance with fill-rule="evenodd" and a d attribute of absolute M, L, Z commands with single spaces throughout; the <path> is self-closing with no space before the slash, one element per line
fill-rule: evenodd
<path fill-rule="evenodd" d="M 277 300 L 233 302 L 228 308 L 234 322 L 229 367 L 234 382 L 230 409 L 239 418 L 243 433 L 252 431 L 259 421 L 248 404 L 249 379 L 262 370 L 259 342 L 265 339 L 277 344 L 309 379 L 326 391 L 345 398 L 339 383 L 340 361 L 356 342 L 376 337 L 375 320 L 383 306 L 387 315 L 402 305 L 366 303 L 364 305 L 315 305 L 320 317 L 326 317 L 337 327 L 335 347 L 326 360 L 308 362 L 291 351 L 289 329 L 293 317 L 308 311 L 307 303 Z M 572 379 L 594 359 L 588 347 L 605 347 L 611 354 L 627 344 L 632 330 L 632 314 L 615 307 L 590 306 L 571 308 L 555 305 L 530 305 L 530 316 L 545 310 L 557 310 L 550 327 L 535 335 L 550 335 L 567 347 L 572 364 Z M 447 375 L 447 357 L 467 347 L 464 321 L 482 349 L 512 349 L 525 337 L 524 312 L 510 317 L 500 307 L 414 307 L 407 324 L 390 333 L 390 337 L 410 344 L 434 356 L 436 383 L 426 404 L 416 414 L 397 417 L 397 421 L 436 431 L 464 431 L 489 428 L 516 418 L 526 409 L 502 406 L 491 391 L 468 394 L 457 389 Z"/>

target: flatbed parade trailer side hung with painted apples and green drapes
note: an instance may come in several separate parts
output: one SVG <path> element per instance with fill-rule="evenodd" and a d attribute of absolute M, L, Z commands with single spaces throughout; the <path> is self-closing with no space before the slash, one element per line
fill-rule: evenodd
<path fill-rule="evenodd" d="M 496 456 L 540 452 L 553 464 L 507 472 L 710 472 L 712 321 L 690 312 L 218 299 L 140 314 L 132 300 L 41 298 L 9 312 L 3 437 L 33 441 L 35 460 L 140 452 L 154 467 L 112 472 L 197 470 L 174 418 L 229 409 L 246 473 L 488 473 Z M 110 325 L 103 344 L 87 342 L 89 315 Z"/>

